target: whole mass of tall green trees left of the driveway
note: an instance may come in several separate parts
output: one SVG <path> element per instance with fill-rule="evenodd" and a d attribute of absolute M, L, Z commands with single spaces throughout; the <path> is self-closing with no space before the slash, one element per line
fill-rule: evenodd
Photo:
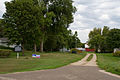
<path fill-rule="evenodd" d="M 33 47 L 36 51 L 72 48 L 81 43 L 68 30 L 76 8 L 72 0 L 12 0 L 5 2 L 5 36 L 10 44 Z M 45 45 L 45 47 L 43 46 Z M 49 45 L 49 47 L 48 47 Z M 38 48 L 39 47 L 39 48 Z"/>

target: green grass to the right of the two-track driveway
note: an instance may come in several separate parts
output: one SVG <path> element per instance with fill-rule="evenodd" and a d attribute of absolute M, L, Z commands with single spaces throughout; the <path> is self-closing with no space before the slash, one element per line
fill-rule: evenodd
<path fill-rule="evenodd" d="M 101 69 L 120 75 L 120 57 L 114 57 L 112 54 L 97 54 L 98 65 Z"/>

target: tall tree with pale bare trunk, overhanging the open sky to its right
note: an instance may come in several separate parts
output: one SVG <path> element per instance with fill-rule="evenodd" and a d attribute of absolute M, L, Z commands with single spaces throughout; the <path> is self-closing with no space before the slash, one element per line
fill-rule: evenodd
<path fill-rule="evenodd" d="M 45 7 L 45 10 L 43 11 L 45 18 L 42 26 L 43 35 L 41 38 L 42 52 L 43 41 L 45 41 L 49 31 L 52 31 L 53 35 L 59 35 L 64 27 L 69 27 L 69 24 L 73 22 L 73 13 L 76 9 L 72 5 L 72 0 L 40 0 L 39 2 L 42 2 Z M 48 29 L 48 27 L 50 28 Z"/>

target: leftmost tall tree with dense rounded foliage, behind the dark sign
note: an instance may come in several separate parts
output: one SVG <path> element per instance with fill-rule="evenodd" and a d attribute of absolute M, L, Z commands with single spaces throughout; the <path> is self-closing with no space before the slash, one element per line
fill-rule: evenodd
<path fill-rule="evenodd" d="M 13 0 L 6 2 L 5 5 L 6 13 L 3 15 L 3 22 L 6 36 L 11 43 L 22 45 L 24 55 L 25 43 L 27 43 L 28 39 L 32 41 L 30 35 L 34 36 L 34 41 L 36 41 L 36 36 L 31 33 L 35 33 L 38 30 L 39 24 L 36 14 L 39 15 L 40 8 L 34 6 L 32 1 L 27 0 Z"/>

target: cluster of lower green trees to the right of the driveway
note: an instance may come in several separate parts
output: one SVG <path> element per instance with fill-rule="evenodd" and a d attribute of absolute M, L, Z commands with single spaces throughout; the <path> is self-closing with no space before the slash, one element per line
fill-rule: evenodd
<path fill-rule="evenodd" d="M 95 48 L 96 52 L 112 52 L 114 48 L 120 47 L 120 29 L 109 29 L 104 26 L 101 28 L 94 28 L 89 33 L 89 46 Z"/>

